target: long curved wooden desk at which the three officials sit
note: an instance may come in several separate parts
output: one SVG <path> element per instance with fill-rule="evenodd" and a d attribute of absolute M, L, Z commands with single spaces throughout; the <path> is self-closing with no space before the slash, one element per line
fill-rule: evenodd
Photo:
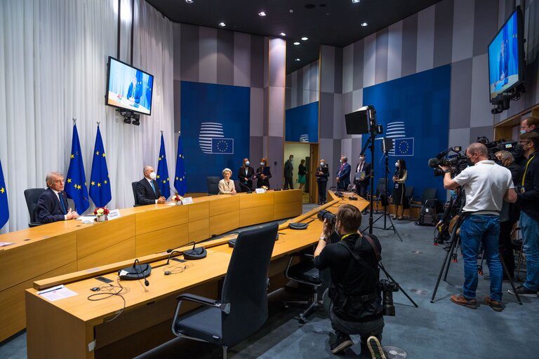
<path fill-rule="evenodd" d="M 302 212 L 300 189 L 193 201 L 125 208 L 121 217 L 107 222 L 62 221 L 1 235 L 0 242 L 15 244 L 0 248 L 0 341 L 25 328 L 24 291 L 36 280 L 151 255 Z"/>

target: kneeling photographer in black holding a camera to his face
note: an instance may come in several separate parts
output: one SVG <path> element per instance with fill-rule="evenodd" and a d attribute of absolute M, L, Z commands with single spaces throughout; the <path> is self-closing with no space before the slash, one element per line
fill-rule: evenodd
<path fill-rule="evenodd" d="M 376 250 L 382 246 L 375 236 L 371 241 L 359 233 L 361 212 L 353 205 L 340 206 L 335 222 L 335 232 L 340 236 L 338 243 L 327 244 L 333 233 L 333 221 L 324 219 L 317 249 L 314 251 L 314 266 L 330 269 L 331 285 L 324 292 L 324 309 L 331 320 L 337 339 L 331 344 L 331 353 L 336 354 L 352 346 L 350 334 L 361 336 L 361 358 L 368 354 L 367 339 L 375 336 L 382 339 L 384 319 L 382 298 L 378 289 L 378 259 Z M 361 262 L 354 258 L 357 253 Z"/>

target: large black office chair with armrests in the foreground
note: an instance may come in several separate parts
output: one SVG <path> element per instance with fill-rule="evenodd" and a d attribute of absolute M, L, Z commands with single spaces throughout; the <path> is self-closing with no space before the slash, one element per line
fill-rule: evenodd
<path fill-rule="evenodd" d="M 180 294 L 172 320 L 177 337 L 207 341 L 227 348 L 250 337 L 267 320 L 267 269 L 278 224 L 272 222 L 239 233 L 228 264 L 220 299 Z M 197 264 L 199 265 L 199 264 Z M 179 316 L 183 301 L 202 307 Z"/>

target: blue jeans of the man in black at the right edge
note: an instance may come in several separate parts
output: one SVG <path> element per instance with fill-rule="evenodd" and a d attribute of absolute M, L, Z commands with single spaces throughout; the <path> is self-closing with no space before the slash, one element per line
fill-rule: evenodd
<path fill-rule="evenodd" d="M 539 285 L 539 221 L 520 212 L 522 243 L 526 256 L 526 282 L 524 287 L 537 290 Z"/>

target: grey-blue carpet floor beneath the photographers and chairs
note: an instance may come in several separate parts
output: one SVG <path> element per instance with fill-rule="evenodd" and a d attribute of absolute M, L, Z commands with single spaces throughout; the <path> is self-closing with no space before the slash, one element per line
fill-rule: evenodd
<path fill-rule="evenodd" d="M 305 208 L 308 210 L 308 208 Z M 378 217 L 378 216 L 375 216 Z M 368 222 L 364 216 L 364 224 Z M 382 346 L 397 346 L 406 358 L 491 359 L 539 358 L 539 299 L 522 298 L 517 304 L 503 283 L 505 310 L 493 311 L 486 305 L 472 310 L 449 300 L 462 292 L 463 261 L 452 263 L 447 281 L 442 281 L 434 303 L 434 285 L 446 252 L 433 245 L 434 229 L 413 222 L 395 221 L 403 242 L 393 231 L 375 229 L 382 243 L 382 262 L 401 287 L 419 305 L 415 308 L 401 292 L 394 294 L 397 315 L 385 317 Z M 383 226 L 382 220 L 375 225 Z M 388 223 L 389 224 L 389 223 Z M 488 269 L 485 267 L 485 273 Z M 477 299 L 488 296 L 490 282 L 479 277 Z M 295 319 L 301 307 L 284 309 L 282 299 L 292 295 L 279 290 L 270 296 L 270 318 L 253 337 L 229 348 L 229 358 L 334 358 L 329 352 L 331 323 L 319 311 L 301 325 Z M 359 337 L 352 336 L 355 343 Z M 211 344 L 174 339 L 139 358 L 220 358 L 221 349 Z M 354 358 L 359 345 L 347 349 L 342 358 Z M 0 358 L 26 358 L 24 332 L 4 341 Z"/>

